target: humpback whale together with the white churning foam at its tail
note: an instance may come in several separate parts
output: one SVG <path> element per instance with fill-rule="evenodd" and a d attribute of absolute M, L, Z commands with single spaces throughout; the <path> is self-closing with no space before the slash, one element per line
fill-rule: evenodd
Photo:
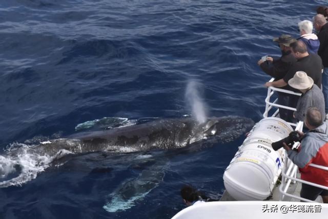
<path fill-rule="evenodd" d="M 239 116 L 211 117 L 199 124 L 192 117 L 161 119 L 103 131 L 81 132 L 36 145 L 16 145 L 0 155 L 0 187 L 22 185 L 67 154 L 127 153 L 174 149 L 209 137 L 229 142 L 250 130 L 254 122 Z M 19 160 L 20 158 L 25 160 Z M 26 166 L 25 164 L 29 165 Z M 13 174 L 13 172 L 16 172 Z M 13 178 L 9 176 L 14 176 Z"/>

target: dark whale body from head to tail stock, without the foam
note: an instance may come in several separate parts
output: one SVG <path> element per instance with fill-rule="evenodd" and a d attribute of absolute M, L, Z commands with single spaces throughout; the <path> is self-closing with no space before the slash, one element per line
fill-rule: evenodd
<path fill-rule="evenodd" d="M 211 136 L 229 142 L 252 128 L 250 118 L 239 116 L 212 117 L 198 124 L 194 118 L 156 120 L 145 124 L 85 132 L 69 138 L 43 144 L 44 152 L 56 153 L 65 149 L 79 152 L 135 152 L 151 149 L 173 149 L 190 145 Z"/>

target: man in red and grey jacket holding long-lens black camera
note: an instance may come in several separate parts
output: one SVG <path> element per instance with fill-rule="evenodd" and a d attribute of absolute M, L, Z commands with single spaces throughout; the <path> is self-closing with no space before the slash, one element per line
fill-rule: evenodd
<path fill-rule="evenodd" d="M 288 157 L 299 167 L 301 180 L 328 187 L 328 171 L 309 166 L 316 164 L 328 167 L 328 126 L 322 122 L 318 108 L 306 111 L 304 124 L 310 130 L 303 135 L 298 151 L 290 149 L 285 143 Z M 301 197 L 316 200 L 321 195 L 323 203 L 328 203 L 328 190 L 302 184 Z"/>

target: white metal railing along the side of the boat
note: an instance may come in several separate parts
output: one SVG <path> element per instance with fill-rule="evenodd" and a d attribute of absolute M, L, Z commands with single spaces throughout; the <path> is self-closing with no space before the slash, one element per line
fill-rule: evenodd
<path fill-rule="evenodd" d="M 271 78 L 269 82 L 273 82 L 273 81 L 274 81 L 274 78 Z M 275 88 L 275 87 L 269 87 L 267 98 L 265 98 L 265 111 L 263 113 L 264 118 L 268 117 L 269 111 L 273 107 L 284 108 L 284 109 L 296 111 L 295 108 L 276 104 L 278 98 L 276 98 L 273 102 L 270 102 L 270 98 L 274 94 L 275 91 L 289 93 L 289 94 L 298 95 L 298 96 L 301 95 L 301 93 L 296 93 L 293 91 L 284 90 L 284 89 Z M 279 113 L 279 109 L 277 109 L 271 116 L 276 117 L 278 115 L 278 113 Z M 302 129 L 303 129 L 303 122 L 298 122 L 297 124 L 294 124 L 294 123 L 288 123 L 288 124 L 294 126 L 295 131 L 302 131 Z M 293 148 L 297 148 L 299 145 L 300 145 L 299 143 L 295 143 Z M 295 198 L 297 200 L 301 200 L 304 202 L 314 202 L 315 203 L 315 201 L 308 200 L 306 198 L 302 198 L 300 196 L 288 193 L 287 191 L 290 188 L 291 183 L 295 184 L 296 182 L 299 182 L 299 183 L 308 184 L 308 185 L 326 189 L 326 190 L 328 190 L 328 187 L 322 186 L 319 184 L 315 184 L 315 183 L 311 183 L 309 181 L 304 181 L 304 180 L 297 178 L 296 176 L 297 176 L 298 167 L 288 158 L 288 155 L 286 152 L 284 154 L 284 157 L 285 157 L 285 165 L 283 166 L 283 169 L 281 172 L 282 178 L 281 178 L 281 185 L 279 187 L 279 192 L 280 192 L 279 201 L 283 201 L 285 196 L 289 196 L 289 197 L 292 197 L 292 198 Z M 320 166 L 320 165 L 316 165 L 316 164 L 310 164 L 309 166 L 328 171 L 328 167 L 325 167 L 325 166 Z"/>

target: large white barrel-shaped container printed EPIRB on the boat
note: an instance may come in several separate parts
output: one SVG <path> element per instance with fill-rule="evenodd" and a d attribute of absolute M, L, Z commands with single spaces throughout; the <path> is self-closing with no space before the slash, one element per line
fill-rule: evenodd
<path fill-rule="evenodd" d="M 263 118 L 250 131 L 223 174 L 224 186 L 238 201 L 265 200 L 281 173 L 281 153 L 271 143 L 293 131 L 280 118 Z"/>

